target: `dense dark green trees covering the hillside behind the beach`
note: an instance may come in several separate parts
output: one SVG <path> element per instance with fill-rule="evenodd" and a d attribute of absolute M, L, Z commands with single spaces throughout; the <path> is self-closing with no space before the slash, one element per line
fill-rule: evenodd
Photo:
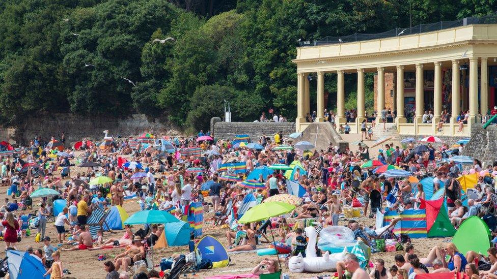
<path fill-rule="evenodd" d="M 268 108 L 293 118 L 298 39 L 409 26 L 409 13 L 416 25 L 496 9 L 495 0 L 0 1 L 0 119 L 141 112 L 205 129 L 224 100 L 233 120 Z M 366 84 L 368 102 L 372 75 Z M 350 106 L 355 86 L 346 79 Z M 333 107 L 334 75 L 325 87 Z"/>

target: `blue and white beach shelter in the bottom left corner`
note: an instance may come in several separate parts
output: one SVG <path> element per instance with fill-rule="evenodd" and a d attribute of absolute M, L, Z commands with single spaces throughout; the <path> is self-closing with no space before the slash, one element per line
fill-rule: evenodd
<path fill-rule="evenodd" d="M 46 269 L 40 260 L 27 252 L 7 250 L 7 264 L 10 278 L 16 279 L 49 279 L 50 275 L 43 276 Z M 61 270 L 62 271 L 62 270 Z"/>

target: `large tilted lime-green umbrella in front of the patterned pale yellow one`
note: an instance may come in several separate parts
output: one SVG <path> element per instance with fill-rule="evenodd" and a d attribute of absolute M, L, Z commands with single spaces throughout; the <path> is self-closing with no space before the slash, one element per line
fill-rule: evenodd
<path fill-rule="evenodd" d="M 284 202 L 264 202 L 248 209 L 238 223 L 252 223 L 280 216 L 295 209 L 295 205 Z"/>

